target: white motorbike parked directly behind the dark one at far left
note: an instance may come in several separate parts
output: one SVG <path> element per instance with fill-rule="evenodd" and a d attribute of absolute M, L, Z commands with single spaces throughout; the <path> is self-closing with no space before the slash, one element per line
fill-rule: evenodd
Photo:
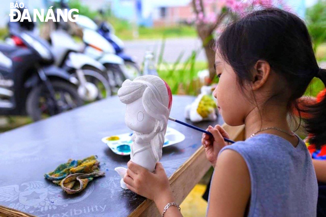
<path fill-rule="evenodd" d="M 17 24 L 9 22 L 8 29 L 10 36 L 15 36 L 12 32 L 25 31 L 34 35 L 35 39 L 42 40 L 35 33 L 35 25 Z M 51 51 L 54 54 L 54 64 L 72 74 L 79 81 L 78 93 L 85 102 L 92 102 L 111 96 L 112 91 L 108 80 L 103 76 L 105 67 L 96 60 L 82 54 L 83 48 L 77 44 L 64 28 L 63 22 L 56 23 L 56 30 L 50 35 Z M 7 42 L 10 43 L 9 39 Z M 12 42 L 11 42 L 12 43 Z M 20 46 L 13 42 L 14 45 Z"/>

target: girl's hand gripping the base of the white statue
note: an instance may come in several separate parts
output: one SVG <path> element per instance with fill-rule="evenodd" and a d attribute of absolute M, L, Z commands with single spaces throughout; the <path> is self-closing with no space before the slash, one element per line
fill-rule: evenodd
<path fill-rule="evenodd" d="M 130 190 L 155 202 L 163 196 L 172 195 L 170 183 L 160 162 L 156 163 L 153 173 L 132 161 L 127 165 L 123 181 Z"/>

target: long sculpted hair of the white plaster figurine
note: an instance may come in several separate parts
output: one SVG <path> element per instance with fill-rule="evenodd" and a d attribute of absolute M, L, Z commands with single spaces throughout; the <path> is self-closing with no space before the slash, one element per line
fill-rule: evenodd
<path fill-rule="evenodd" d="M 137 80 L 143 80 L 152 84 L 157 89 L 160 98 L 157 99 L 157 95 L 155 95 L 151 87 L 144 83 L 135 82 Z M 130 104 L 142 97 L 145 111 L 156 119 L 156 123 L 151 133 L 142 135 L 142 138 L 136 136 L 133 136 L 133 138 L 136 141 L 150 141 L 155 159 L 157 161 L 161 160 L 164 135 L 172 100 L 168 85 L 158 76 L 144 75 L 135 78 L 133 81 L 125 80 L 118 91 L 118 96 L 124 104 Z"/>

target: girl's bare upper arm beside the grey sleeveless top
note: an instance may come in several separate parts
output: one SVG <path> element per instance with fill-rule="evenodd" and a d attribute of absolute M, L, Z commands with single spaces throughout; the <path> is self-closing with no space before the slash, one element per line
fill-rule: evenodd
<path fill-rule="evenodd" d="M 250 198 L 250 176 L 244 158 L 226 149 L 217 158 L 207 217 L 243 217 Z"/>

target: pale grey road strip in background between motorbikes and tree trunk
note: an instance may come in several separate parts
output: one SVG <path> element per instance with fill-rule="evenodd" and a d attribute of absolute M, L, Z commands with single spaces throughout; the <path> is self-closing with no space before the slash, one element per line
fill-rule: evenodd
<path fill-rule="evenodd" d="M 137 63 L 141 64 L 144 58 L 145 51 L 157 51 L 159 55 L 162 40 L 131 40 L 124 41 L 126 54 L 135 56 Z M 198 38 L 167 38 L 165 39 L 165 48 L 163 60 L 168 63 L 174 63 L 181 52 L 184 53 L 183 60 L 191 55 L 193 50 L 198 50 L 202 47 L 202 42 Z M 206 61 L 204 50 L 197 57 L 197 61 Z"/>

